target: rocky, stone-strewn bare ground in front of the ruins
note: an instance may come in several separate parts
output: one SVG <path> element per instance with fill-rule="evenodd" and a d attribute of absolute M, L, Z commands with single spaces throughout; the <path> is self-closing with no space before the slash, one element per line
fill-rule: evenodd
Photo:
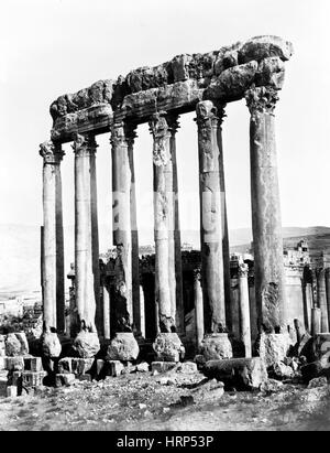
<path fill-rule="evenodd" d="M 135 373 L 0 398 L 0 430 L 329 430 L 330 386 L 223 391 L 199 373 Z"/>

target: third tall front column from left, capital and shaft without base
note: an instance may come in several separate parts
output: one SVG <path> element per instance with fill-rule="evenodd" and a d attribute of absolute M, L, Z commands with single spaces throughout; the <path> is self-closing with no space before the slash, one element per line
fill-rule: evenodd
<path fill-rule="evenodd" d="M 132 332 L 132 234 L 131 234 L 131 168 L 127 127 L 114 122 L 112 145 L 112 230 L 116 259 L 117 332 Z"/>

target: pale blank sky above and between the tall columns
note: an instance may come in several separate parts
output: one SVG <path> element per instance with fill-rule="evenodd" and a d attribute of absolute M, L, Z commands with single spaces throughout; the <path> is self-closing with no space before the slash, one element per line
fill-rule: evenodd
<path fill-rule="evenodd" d="M 329 0 L 11 0 L 0 6 L 0 223 L 42 224 L 42 158 L 51 103 L 102 78 L 262 34 L 295 54 L 276 107 L 284 226 L 330 226 Z M 177 133 L 180 222 L 198 229 L 195 115 Z M 152 137 L 139 127 L 134 161 L 140 228 L 153 228 Z M 109 134 L 98 136 L 100 224 L 111 225 Z M 64 222 L 74 224 L 74 153 L 62 164 Z M 227 107 L 223 152 L 229 228 L 251 226 L 249 111 Z M 185 239 L 185 237 L 184 237 Z"/>

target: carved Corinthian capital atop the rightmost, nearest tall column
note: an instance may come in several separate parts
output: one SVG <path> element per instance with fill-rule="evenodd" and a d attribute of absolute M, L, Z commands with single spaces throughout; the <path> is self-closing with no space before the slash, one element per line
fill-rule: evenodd
<path fill-rule="evenodd" d="M 245 93 L 246 106 L 251 115 L 273 114 L 278 100 L 277 90 L 272 87 L 254 87 Z"/>

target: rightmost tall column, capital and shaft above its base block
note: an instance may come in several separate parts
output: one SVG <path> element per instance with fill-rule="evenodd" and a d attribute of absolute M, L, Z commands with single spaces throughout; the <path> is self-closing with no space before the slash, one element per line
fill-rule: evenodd
<path fill-rule="evenodd" d="M 287 320 L 275 147 L 274 109 L 278 96 L 273 88 L 256 87 L 246 91 L 245 99 L 251 114 L 251 204 L 258 327 L 279 332 Z"/>

